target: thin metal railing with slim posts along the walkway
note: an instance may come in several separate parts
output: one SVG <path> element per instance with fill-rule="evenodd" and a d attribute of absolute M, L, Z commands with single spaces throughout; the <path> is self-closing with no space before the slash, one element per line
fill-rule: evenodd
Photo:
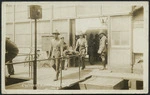
<path fill-rule="evenodd" d="M 14 62 L 14 63 L 6 63 L 5 65 L 10 65 L 10 64 L 16 65 L 16 64 L 22 64 L 22 63 L 29 63 L 29 76 L 31 75 L 31 77 L 32 77 L 32 73 L 31 73 L 32 72 L 32 65 L 31 65 L 31 63 L 33 63 L 35 61 L 35 60 L 33 60 L 33 54 L 24 54 L 24 55 L 31 55 L 32 60 L 22 61 L 22 62 Z M 70 55 L 69 57 L 48 58 L 48 59 L 41 59 L 41 60 L 37 60 L 37 61 L 61 59 L 61 64 L 60 64 L 60 88 L 62 88 L 62 61 L 63 61 L 63 59 L 70 59 L 71 57 L 78 57 L 79 58 L 80 55 Z M 30 66 L 31 66 L 31 68 L 30 68 Z M 30 69 L 31 69 L 31 72 L 30 72 Z M 79 81 L 80 81 L 80 62 L 79 62 Z"/>

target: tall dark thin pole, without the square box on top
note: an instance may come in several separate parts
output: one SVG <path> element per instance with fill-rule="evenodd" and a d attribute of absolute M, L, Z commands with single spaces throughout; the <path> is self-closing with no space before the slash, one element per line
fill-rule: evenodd
<path fill-rule="evenodd" d="M 35 19 L 35 55 L 34 55 L 34 71 L 33 71 L 33 89 L 37 89 L 36 84 L 37 84 L 37 20 Z"/>

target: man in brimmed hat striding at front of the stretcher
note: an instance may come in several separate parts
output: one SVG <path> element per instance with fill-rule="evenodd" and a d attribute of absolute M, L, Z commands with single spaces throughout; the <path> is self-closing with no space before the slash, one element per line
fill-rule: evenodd
<path fill-rule="evenodd" d="M 51 44 L 50 54 L 51 54 L 51 58 L 56 58 L 55 60 L 53 60 L 53 62 L 54 62 L 54 65 L 56 66 L 56 68 L 54 68 L 56 71 L 56 78 L 54 79 L 54 81 L 57 81 L 58 76 L 59 76 L 59 67 L 60 67 L 60 59 L 58 58 L 61 57 L 63 54 L 63 47 L 61 44 L 61 40 L 58 37 L 60 33 L 56 30 L 52 34 L 54 38 L 51 40 L 51 43 L 50 43 Z"/>

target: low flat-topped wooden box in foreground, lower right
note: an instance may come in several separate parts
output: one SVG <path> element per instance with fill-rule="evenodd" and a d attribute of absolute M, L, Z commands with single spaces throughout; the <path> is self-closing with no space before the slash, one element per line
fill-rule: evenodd
<path fill-rule="evenodd" d="M 123 79 L 93 76 L 79 83 L 81 90 L 112 90 L 124 88 Z"/>

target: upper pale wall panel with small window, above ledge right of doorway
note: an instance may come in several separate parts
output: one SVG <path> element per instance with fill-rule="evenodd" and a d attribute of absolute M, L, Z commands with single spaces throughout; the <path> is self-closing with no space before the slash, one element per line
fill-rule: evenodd
<path fill-rule="evenodd" d="M 111 17 L 111 46 L 130 45 L 131 19 L 129 16 Z"/>

